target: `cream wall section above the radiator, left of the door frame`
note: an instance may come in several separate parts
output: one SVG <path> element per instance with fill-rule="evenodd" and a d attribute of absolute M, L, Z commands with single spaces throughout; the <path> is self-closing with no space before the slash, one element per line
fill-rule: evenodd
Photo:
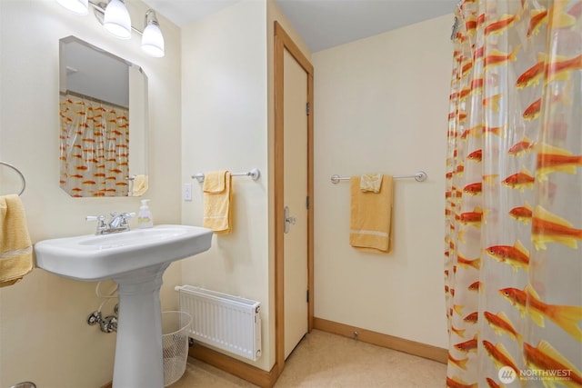
<path fill-rule="evenodd" d="M 215 234 L 208 252 L 185 260 L 182 280 L 262 303 L 264 353 L 254 364 L 268 371 L 274 322 L 268 287 L 266 2 L 243 0 L 182 33 L 182 182 L 194 186 L 193 201 L 182 206 L 183 223 L 203 220 L 202 184 L 191 175 L 261 171 L 256 182 L 233 177 L 233 231 Z"/>

